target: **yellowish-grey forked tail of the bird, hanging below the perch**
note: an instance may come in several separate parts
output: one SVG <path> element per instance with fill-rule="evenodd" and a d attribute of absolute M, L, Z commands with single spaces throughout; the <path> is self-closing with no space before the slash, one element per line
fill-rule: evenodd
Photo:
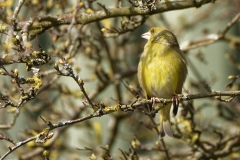
<path fill-rule="evenodd" d="M 160 110 L 160 133 L 159 133 L 159 139 L 162 139 L 165 135 L 168 135 L 169 137 L 173 138 L 173 132 L 171 129 L 171 123 L 170 123 L 170 109 L 171 109 L 171 103 L 167 104 L 163 109 Z"/>

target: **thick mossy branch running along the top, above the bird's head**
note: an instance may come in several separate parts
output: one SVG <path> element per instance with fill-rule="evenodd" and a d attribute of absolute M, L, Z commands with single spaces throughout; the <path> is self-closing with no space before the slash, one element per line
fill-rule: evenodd
<path fill-rule="evenodd" d="M 153 15 L 159 14 L 166 11 L 181 10 L 191 7 L 200 7 L 201 5 L 212 3 L 213 0 L 202 0 L 198 4 L 194 0 L 190 1 L 166 1 L 160 3 L 155 10 L 141 9 L 134 7 L 123 7 L 123 8 L 105 8 L 104 10 L 97 11 L 94 13 L 81 13 L 76 15 L 75 24 L 88 24 L 99 20 L 121 17 L 121 16 L 136 16 L 136 15 Z M 106 12 L 107 10 L 107 12 Z M 68 25 L 71 24 L 73 14 L 63 14 L 59 16 L 43 16 L 37 21 L 39 23 L 33 23 L 29 30 L 46 30 L 54 26 Z M 17 30 L 21 30 L 26 22 L 19 22 Z"/>

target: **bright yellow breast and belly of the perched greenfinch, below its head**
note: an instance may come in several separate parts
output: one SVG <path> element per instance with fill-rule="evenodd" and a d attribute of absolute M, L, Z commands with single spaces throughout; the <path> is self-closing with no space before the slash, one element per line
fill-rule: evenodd
<path fill-rule="evenodd" d="M 177 93 L 183 62 L 179 57 L 145 57 L 138 68 L 138 79 L 148 95 L 171 98 Z"/>

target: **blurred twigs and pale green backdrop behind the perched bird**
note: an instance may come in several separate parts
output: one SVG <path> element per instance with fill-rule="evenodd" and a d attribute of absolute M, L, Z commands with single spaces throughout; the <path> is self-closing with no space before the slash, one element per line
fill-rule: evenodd
<path fill-rule="evenodd" d="M 14 142 L 24 141 L 48 127 L 40 116 L 57 124 L 86 117 L 96 112 L 99 106 L 131 104 L 142 97 L 136 75 L 139 57 L 146 44 L 141 34 L 155 26 L 172 31 L 185 53 L 189 74 L 183 94 L 238 91 L 239 21 L 231 25 L 224 38 L 211 43 L 208 40 L 221 34 L 239 14 L 240 2 L 225 0 L 174 9 L 178 2 L 181 1 L 26 0 L 17 22 L 32 20 L 37 24 L 42 22 L 39 17 L 48 16 L 47 22 L 51 21 L 51 16 L 62 18 L 64 14 L 70 15 L 71 21 L 49 29 L 30 28 L 29 50 L 41 53 L 26 58 L 21 56 L 27 46 L 22 40 L 22 32 L 17 29 L 11 32 L 13 26 L 1 19 L 0 55 L 8 63 L 0 65 L 0 103 L 1 106 L 13 103 L 12 107 L 0 109 L 1 135 Z M 197 4 L 196 1 L 196 6 L 200 2 Z M 0 1 L 0 6 L 4 16 L 11 16 L 18 2 Z M 117 11 L 120 6 L 152 12 L 149 15 L 119 14 L 85 25 L 76 24 L 79 15 L 96 16 L 100 15 L 97 11 L 106 8 Z M 169 11 L 160 12 L 166 8 Z M 10 37 L 13 40 L 9 40 Z M 194 44 L 197 46 L 191 48 Z M 44 57 L 42 51 L 51 60 L 40 63 Z M 36 57 L 36 63 L 24 61 L 24 58 L 34 61 Z M 29 66 L 40 69 L 37 80 L 42 81 L 42 85 L 34 77 L 36 73 L 27 70 Z M 75 79 L 64 74 L 70 73 L 71 69 L 84 82 L 85 91 L 96 108 L 89 106 Z M 14 78 L 16 72 L 18 77 Z M 20 81 L 20 77 L 26 82 Z M 35 79 L 30 83 L 27 78 Z M 41 87 L 37 88 L 37 85 Z M 31 95 L 33 98 L 29 96 L 31 88 L 36 92 Z M 28 98 L 20 104 L 26 95 Z M 230 102 L 226 102 L 229 97 L 220 98 L 222 101 L 212 97 L 181 103 L 178 115 L 171 116 L 173 139 L 166 137 L 159 141 L 155 130 L 159 115 L 145 114 L 149 108 L 143 105 L 133 111 L 118 110 L 56 128 L 46 143 L 30 141 L 6 159 L 239 159 L 239 97 Z M 6 139 L 0 141 L 0 156 L 9 150 L 8 146 L 14 144 Z M 44 151 L 49 155 L 44 156 Z"/>

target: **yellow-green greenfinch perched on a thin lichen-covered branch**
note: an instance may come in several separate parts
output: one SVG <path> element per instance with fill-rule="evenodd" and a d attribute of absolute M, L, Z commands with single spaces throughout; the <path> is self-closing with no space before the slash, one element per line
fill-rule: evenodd
<path fill-rule="evenodd" d="M 138 64 L 138 81 L 145 94 L 165 99 L 181 94 L 187 62 L 175 35 L 167 29 L 154 27 L 142 37 L 148 42 Z M 160 110 L 160 139 L 165 135 L 173 137 L 170 109 L 171 104 L 167 104 Z"/>

